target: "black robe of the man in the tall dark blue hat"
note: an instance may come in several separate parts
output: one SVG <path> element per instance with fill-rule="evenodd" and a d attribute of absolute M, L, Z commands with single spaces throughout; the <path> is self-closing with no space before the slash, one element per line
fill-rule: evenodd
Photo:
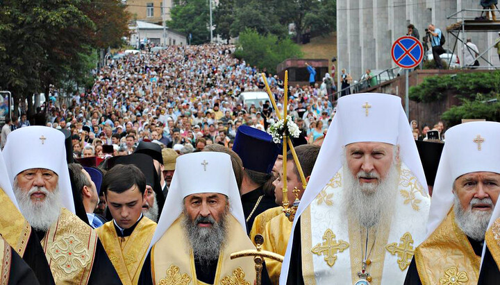
<path fill-rule="evenodd" d="M 263 198 L 257 205 L 260 196 L 263 196 Z M 278 207 L 278 205 L 276 205 L 276 202 L 274 202 L 274 197 L 265 195 L 263 187 L 258 187 L 257 189 L 250 191 L 249 193 L 245 193 L 242 195 L 241 198 L 242 198 L 243 214 L 245 220 L 250 216 L 250 214 L 252 214 L 251 211 L 253 211 L 253 208 L 255 208 L 255 211 L 253 211 L 253 214 L 251 215 L 249 221 L 247 222 L 247 234 L 250 234 L 250 230 L 253 225 L 253 220 L 255 220 L 255 217 L 258 216 L 258 214 L 262 213 L 267 209 Z"/>

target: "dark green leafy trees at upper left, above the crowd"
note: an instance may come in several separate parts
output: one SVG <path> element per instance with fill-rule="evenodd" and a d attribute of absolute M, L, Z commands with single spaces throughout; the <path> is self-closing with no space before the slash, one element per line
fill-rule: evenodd
<path fill-rule="evenodd" d="M 94 48 L 115 44 L 128 33 L 124 6 L 116 2 L 4 0 L 0 9 L 0 88 L 12 92 L 17 103 L 47 92 L 50 85 L 85 85 L 94 66 Z M 113 3 L 114 10 L 102 3 Z M 99 40 L 103 33 L 106 40 Z M 28 111 L 30 106 L 31 99 Z"/>

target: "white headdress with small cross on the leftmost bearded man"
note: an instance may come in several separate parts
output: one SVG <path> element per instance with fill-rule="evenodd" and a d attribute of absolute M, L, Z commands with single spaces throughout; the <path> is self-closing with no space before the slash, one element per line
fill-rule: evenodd
<path fill-rule="evenodd" d="M 3 148 L 3 159 L 12 186 L 16 175 L 26 169 L 49 169 L 55 172 L 63 207 L 75 212 L 63 132 L 43 126 L 14 130 L 8 135 Z"/>

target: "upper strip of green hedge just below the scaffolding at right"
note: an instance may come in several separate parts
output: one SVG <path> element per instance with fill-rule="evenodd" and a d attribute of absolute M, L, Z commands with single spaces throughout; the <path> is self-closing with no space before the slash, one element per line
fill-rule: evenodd
<path fill-rule="evenodd" d="M 412 101 L 440 101 L 453 94 L 457 98 L 474 100 L 477 94 L 494 96 L 500 93 L 500 71 L 460 73 L 453 76 L 431 76 L 410 87 Z"/>

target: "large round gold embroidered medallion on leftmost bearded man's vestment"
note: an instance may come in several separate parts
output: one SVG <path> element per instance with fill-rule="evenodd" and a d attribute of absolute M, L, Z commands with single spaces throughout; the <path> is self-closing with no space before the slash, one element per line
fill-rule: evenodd
<path fill-rule="evenodd" d="M 90 262 L 87 248 L 74 234 L 67 234 L 52 243 L 49 254 L 66 274 L 76 273 Z"/>

